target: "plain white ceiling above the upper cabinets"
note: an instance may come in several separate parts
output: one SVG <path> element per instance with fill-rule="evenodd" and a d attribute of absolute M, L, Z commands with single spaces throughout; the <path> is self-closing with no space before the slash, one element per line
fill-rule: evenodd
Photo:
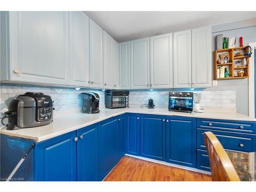
<path fill-rule="evenodd" d="M 256 17 L 255 11 L 84 11 L 116 41 Z"/>

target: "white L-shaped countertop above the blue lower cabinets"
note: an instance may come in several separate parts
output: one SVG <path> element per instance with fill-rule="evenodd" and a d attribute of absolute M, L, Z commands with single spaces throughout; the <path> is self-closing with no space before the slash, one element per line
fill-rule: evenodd
<path fill-rule="evenodd" d="M 204 113 L 182 113 L 170 112 L 165 108 L 147 109 L 147 108 L 125 108 L 125 109 L 101 109 L 98 114 L 82 114 L 74 113 L 56 116 L 53 122 L 48 125 L 19 129 L 6 130 L 6 126 L 0 128 L 0 133 L 10 136 L 33 139 L 36 142 L 41 142 L 71 131 L 75 131 L 82 127 L 97 123 L 99 121 L 121 115 L 124 113 L 140 113 L 140 114 L 155 114 L 167 116 L 182 116 L 182 117 L 196 117 L 209 119 L 223 119 L 223 120 L 242 120 L 242 121 L 256 121 L 246 115 L 239 113 L 227 112 L 204 112 Z"/>

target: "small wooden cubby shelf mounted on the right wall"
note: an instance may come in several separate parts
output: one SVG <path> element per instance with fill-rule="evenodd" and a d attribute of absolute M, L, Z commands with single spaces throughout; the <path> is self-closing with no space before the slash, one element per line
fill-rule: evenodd
<path fill-rule="evenodd" d="M 237 52 L 241 52 L 242 55 L 236 56 Z M 215 51 L 215 59 L 214 59 L 214 66 L 215 66 L 215 80 L 224 80 L 224 79 L 244 79 L 249 77 L 249 57 L 246 56 L 248 51 L 247 47 L 236 47 L 236 48 L 229 48 L 229 49 L 218 49 Z M 220 59 L 221 54 L 229 53 L 229 62 L 228 63 L 218 63 L 218 59 Z M 237 61 L 246 59 L 246 66 L 238 67 L 236 65 Z M 229 77 L 218 77 L 218 68 L 222 66 L 228 66 L 229 68 Z M 244 71 L 244 76 L 234 76 L 234 72 L 239 72 L 240 70 Z"/>

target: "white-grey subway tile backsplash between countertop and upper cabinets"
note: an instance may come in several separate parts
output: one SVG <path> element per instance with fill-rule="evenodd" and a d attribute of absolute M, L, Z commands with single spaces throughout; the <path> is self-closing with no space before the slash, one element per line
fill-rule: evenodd
<path fill-rule="evenodd" d="M 104 92 L 101 90 L 74 88 L 48 88 L 48 87 L 31 87 L 31 86 L 9 86 L 1 85 L 1 105 L 0 110 L 8 108 L 9 102 L 19 94 L 26 92 L 42 92 L 50 95 L 54 101 L 55 111 L 79 109 L 81 108 L 80 93 L 82 92 L 96 92 L 100 96 L 100 108 L 105 108 Z M 173 91 L 173 90 L 172 90 Z M 236 108 L 236 91 L 198 91 L 201 93 L 201 105 L 219 108 Z M 168 90 L 154 90 L 154 91 L 130 91 L 129 104 L 146 104 L 149 98 L 154 99 L 156 106 L 168 106 Z"/>

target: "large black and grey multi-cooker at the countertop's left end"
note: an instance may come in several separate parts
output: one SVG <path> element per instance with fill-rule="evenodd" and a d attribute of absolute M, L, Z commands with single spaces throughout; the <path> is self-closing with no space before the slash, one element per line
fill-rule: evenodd
<path fill-rule="evenodd" d="M 53 110 L 53 101 L 49 95 L 34 92 L 18 95 L 5 112 L 8 117 L 7 130 L 49 124 L 53 119 Z"/>

